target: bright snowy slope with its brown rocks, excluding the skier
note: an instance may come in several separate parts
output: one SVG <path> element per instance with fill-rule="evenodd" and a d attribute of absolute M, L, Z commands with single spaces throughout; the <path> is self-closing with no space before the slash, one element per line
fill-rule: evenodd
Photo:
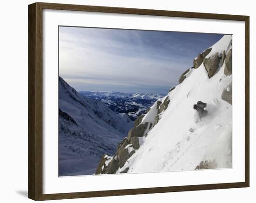
<path fill-rule="evenodd" d="M 135 121 L 115 155 L 102 157 L 96 174 L 232 167 L 232 36 L 206 51 Z M 207 103 L 202 120 L 197 101 Z"/>

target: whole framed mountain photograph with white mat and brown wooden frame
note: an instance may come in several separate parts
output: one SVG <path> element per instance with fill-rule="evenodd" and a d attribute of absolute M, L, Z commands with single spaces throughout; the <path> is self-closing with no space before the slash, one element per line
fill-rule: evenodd
<path fill-rule="evenodd" d="M 249 187 L 249 16 L 28 6 L 28 196 Z"/>

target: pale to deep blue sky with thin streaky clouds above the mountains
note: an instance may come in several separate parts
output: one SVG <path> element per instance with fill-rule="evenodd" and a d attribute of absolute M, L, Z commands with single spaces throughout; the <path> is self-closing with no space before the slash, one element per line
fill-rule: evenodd
<path fill-rule="evenodd" d="M 223 34 L 59 27 L 59 74 L 77 91 L 167 94 Z"/>

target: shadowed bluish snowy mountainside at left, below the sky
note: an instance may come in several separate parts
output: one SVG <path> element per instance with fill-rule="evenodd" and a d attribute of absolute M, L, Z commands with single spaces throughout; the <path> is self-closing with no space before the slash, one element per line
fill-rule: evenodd
<path fill-rule="evenodd" d="M 133 127 L 101 101 L 84 97 L 59 77 L 59 175 L 94 174 L 101 156 L 113 155 Z"/>

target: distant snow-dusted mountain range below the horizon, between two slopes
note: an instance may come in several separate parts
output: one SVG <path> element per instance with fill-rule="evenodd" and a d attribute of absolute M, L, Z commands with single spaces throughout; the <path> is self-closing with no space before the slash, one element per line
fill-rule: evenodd
<path fill-rule="evenodd" d="M 156 100 L 164 95 L 152 93 L 123 93 L 123 92 L 91 92 L 79 91 L 81 95 L 93 100 L 102 101 L 117 114 L 127 114 L 132 121 L 146 114 Z"/>

